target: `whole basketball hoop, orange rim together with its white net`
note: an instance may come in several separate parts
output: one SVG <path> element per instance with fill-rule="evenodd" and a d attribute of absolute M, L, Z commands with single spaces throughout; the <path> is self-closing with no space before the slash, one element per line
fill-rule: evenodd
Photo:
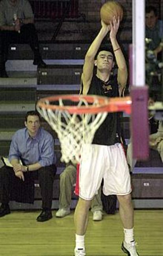
<path fill-rule="evenodd" d="M 80 161 L 82 144 L 91 144 L 108 112 L 130 114 L 131 99 L 98 95 L 56 95 L 40 99 L 37 110 L 58 135 L 61 161 Z"/>

